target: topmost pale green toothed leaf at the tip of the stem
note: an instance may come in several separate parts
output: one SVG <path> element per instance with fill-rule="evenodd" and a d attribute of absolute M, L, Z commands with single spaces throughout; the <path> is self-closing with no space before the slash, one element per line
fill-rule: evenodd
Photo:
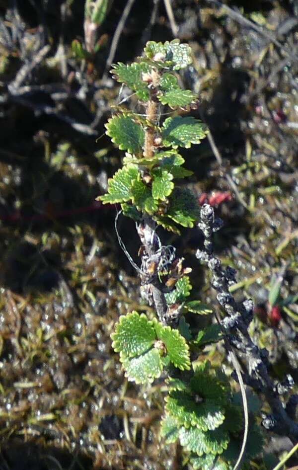
<path fill-rule="evenodd" d="M 191 48 L 188 44 L 180 44 L 179 39 L 165 43 L 149 41 L 145 47 L 145 54 L 159 67 L 172 67 L 173 70 L 184 69 L 192 63 Z M 157 57 L 157 54 L 163 57 Z"/>

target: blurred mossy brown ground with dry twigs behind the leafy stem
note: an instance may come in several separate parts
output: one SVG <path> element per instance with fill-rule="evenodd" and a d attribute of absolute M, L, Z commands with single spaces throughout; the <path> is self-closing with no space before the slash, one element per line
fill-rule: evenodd
<path fill-rule="evenodd" d="M 257 304 L 251 333 L 273 376 L 298 381 L 297 2 L 0 0 L 1 470 L 188 468 L 158 440 L 163 380 L 131 385 L 112 352 L 119 314 L 150 309 L 139 307 L 115 209 L 95 202 L 121 162 L 104 123 L 131 94 L 110 64 L 174 37 L 193 49 L 181 82 L 199 93 L 194 115 L 211 131 L 184 153 L 189 187 L 203 199 L 228 194 L 215 201 L 217 251 Z M 134 96 L 127 105 L 143 112 Z M 137 260 L 134 225 L 119 228 Z M 199 231 L 164 236 L 212 304 L 194 257 Z M 225 362 L 221 347 L 203 355 Z M 267 450 L 290 444 L 268 436 Z"/>

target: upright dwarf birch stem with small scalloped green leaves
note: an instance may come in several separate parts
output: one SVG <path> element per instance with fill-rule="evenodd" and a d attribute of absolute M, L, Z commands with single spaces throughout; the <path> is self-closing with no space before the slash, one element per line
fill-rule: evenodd
<path fill-rule="evenodd" d="M 192 334 L 187 313 L 212 311 L 200 300 L 188 300 L 191 269 L 156 234 L 158 226 L 180 234 L 181 227 L 192 228 L 199 220 L 197 199 L 181 184 L 192 172 L 184 166 L 180 149 L 200 144 L 208 130 L 194 117 L 177 114 L 197 108 L 197 95 L 182 89 L 177 75 L 191 63 L 187 44 L 150 41 L 137 62 L 114 64 L 111 71 L 137 95 L 144 112 L 118 106 L 106 124 L 107 135 L 126 153 L 122 168 L 108 181 L 107 194 L 99 199 L 120 204 L 123 214 L 136 222 L 141 293 L 156 312 L 153 319 L 138 312 L 121 316 L 112 346 L 125 375 L 136 384 L 165 375 L 168 394 L 161 439 L 168 444 L 180 441 L 193 469 L 229 470 L 241 447 L 241 400 L 219 369 L 208 361 L 193 361 L 202 347 L 221 338 L 221 328 L 212 325 Z M 164 120 L 161 106 L 173 111 Z M 262 442 L 254 424 L 250 441 L 246 460 Z"/>

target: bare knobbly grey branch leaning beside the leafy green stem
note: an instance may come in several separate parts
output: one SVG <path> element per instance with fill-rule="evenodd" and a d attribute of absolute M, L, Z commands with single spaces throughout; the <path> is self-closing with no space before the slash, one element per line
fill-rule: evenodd
<path fill-rule="evenodd" d="M 293 420 L 293 416 L 298 399 L 293 395 L 285 407 L 281 400 L 281 395 L 293 387 L 293 379 L 287 376 L 287 379 L 279 384 L 275 384 L 271 379 L 268 372 L 268 352 L 254 344 L 248 332 L 253 318 L 253 301 L 235 301 L 229 292 L 229 286 L 235 283 L 236 271 L 229 266 L 224 268 L 220 259 L 213 254 L 213 233 L 222 225 L 221 219 L 215 219 L 213 208 L 204 204 L 199 223 L 199 228 L 204 234 L 204 249 L 198 249 L 196 256 L 212 272 L 212 286 L 217 291 L 217 300 L 226 313 L 221 322 L 222 327 L 235 354 L 247 368 L 243 380 L 256 392 L 263 393 L 271 407 L 272 414 L 264 416 L 263 426 L 276 434 L 297 440 L 298 424 Z"/>

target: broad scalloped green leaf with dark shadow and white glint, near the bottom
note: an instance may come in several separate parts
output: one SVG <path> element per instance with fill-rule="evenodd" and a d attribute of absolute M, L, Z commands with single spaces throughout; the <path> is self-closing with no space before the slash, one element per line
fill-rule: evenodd
<path fill-rule="evenodd" d="M 196 396 L 178 390 L 170 392 L 165 400 L 166 411 L 175 417 L 181 426 L 196 426 L 207 431 L 218 428 L 224 422 L 224 409 L 217 401 L 204 399 L 196 402 Z"/>

